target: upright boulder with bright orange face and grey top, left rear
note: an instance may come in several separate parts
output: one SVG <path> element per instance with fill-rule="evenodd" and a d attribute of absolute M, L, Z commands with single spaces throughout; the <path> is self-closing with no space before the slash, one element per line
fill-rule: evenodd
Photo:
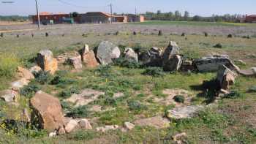
<path fill-rule="evenodd" d="M 50 50 L 41 50 L 37 53 L 37 64 L 44 71 L 49 71 L 54 74 L 58 69 L 58 61 L 53 58 L 53 53 Z"/>

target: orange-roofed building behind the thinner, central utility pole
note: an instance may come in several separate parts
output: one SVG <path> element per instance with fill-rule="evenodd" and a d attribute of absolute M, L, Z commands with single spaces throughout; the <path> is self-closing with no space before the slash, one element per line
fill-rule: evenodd
<path fill-rule="evenodd" d="M 80 23 L 110 23 L 112 18 L 113 23 L 126 23 L 127 16 L 110 15 L 105 12 L 87 12 L 80 14 Z"/>

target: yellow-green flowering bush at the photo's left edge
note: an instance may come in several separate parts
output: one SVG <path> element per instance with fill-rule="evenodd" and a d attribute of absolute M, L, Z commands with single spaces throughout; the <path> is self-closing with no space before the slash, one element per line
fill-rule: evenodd
<path fill-rule="evenodd" d="M 20 61 L 14 55 L 0 56 L 0 77 L 13 77 Z"/>

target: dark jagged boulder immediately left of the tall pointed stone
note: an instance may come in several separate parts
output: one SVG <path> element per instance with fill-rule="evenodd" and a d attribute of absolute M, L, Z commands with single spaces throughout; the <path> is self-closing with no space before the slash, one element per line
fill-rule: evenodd
<path fill-rule="evenodd" d="M 160 48 L 151 48 L 140 53 L 139 61 L 148 67 L 162 67 L 162 50 Z"/>

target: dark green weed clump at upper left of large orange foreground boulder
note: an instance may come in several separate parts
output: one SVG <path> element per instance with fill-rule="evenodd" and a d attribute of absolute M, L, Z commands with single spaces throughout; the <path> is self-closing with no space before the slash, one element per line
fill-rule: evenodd
<path fill-rule="evenodd" d="M 20 94 L 26 97 L 32 97 L 34 94 L 39 91 L 40 88 L 34 83 L 29 83 L 28 86 L 24 86 L 23 88 L 20 88 Z"/>

